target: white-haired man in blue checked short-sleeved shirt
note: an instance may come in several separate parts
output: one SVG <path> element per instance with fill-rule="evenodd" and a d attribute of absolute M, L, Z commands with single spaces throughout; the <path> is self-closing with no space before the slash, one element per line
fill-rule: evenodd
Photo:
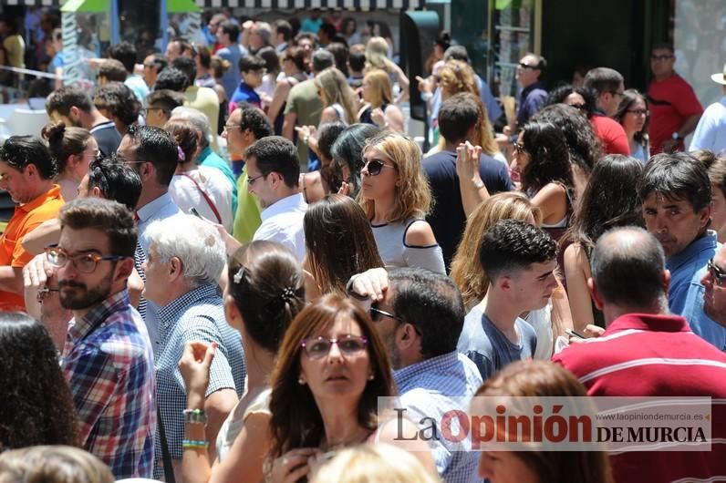
<path fill-rule="evenodd" d="M 177 481 L 181 481 L 187 396 L 178 363 L 184 345 L 192 341 L 217 344 L 202 413 L 212 459 L 217 433 L 243 394 L 244 353 L 240 334 L 227 324 L 223 301 L 217 294 L 226 256 L 222 238 L 213 225 L 192 215 L 179 215 L 154 221 L 148 234 L 150 250 L 142 266 L 146 273 L 143 294 L 161 307 L 156 389 L 167 443 L 163 448 L 161 437 L 157 437 L 155 476 L 161 476 L 161 455 L 168 450 Z"/>

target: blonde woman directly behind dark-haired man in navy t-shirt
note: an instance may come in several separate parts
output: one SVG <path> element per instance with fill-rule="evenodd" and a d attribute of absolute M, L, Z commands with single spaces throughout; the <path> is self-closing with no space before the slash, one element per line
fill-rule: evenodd
<path fill-rule="evenodd" d="M 482 104 L 479 86 L 472 67 L 461 60 L 448 61 L 439 71 L 439 87 L 441 88 L 441 102 L 462 92 L 469 92 L 477 99 L 481 121 L 477 127 L 476 136 L 471 139 L 471 142 L 474 146 L 481 146 L 482 152 L 487 156 L 506 163 L 506 158 L 504 158 L 502 151 L 499 150 L 499 146 L 494 141 L 492 123 L 489 121 L 489 113 Z M 439 134 L 438 125 L 434 126 L 434 142 L 436 146 L 430 149 L 427 156 L 440 152 L 446 147 L 446 140 Z"/>

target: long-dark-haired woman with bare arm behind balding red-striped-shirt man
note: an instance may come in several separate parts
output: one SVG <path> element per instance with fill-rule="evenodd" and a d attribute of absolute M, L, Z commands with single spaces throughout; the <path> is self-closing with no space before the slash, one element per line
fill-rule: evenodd
<path fill-rule="evenodd" d="M 643 226 L 636 185 L 643 171 L 638 159 L 613 154 L 601 159 L 590 175 L 580 200 L 565 249 L 565 277 L 575 329 L 582 332 L 587 324 L 605 327 L 603 314 L 590 298 L 587 279 L 590 254 L 605 231 L 618 226 Z"/>

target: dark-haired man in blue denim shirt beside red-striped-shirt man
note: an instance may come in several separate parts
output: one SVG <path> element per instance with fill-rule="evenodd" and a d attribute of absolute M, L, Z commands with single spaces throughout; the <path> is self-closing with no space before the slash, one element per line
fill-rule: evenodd
<path fill-rule="evenodd" d="M 638 183 L 648 231 L 666 252 L 670 271 L 670 312 L 685 317 L 691 330 L 719 349 L 726 349 L 726 329 L 703 312 L 706 265 L 720 247 L 709 231 L 710 181 L 697 159 L 677 152 L 654 156 Z"/>

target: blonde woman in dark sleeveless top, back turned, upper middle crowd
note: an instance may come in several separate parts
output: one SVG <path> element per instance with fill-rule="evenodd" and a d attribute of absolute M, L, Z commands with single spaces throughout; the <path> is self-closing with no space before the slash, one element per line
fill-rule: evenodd
<path fill-rule="evenodd" d="M 385 70 L 371 70 L 360 87 L 365 104 L 358 113 L 360 122 L 373 124 L 394 132 L 403 132 L 403 113 L 393 103 L 390 77 Z"/>

